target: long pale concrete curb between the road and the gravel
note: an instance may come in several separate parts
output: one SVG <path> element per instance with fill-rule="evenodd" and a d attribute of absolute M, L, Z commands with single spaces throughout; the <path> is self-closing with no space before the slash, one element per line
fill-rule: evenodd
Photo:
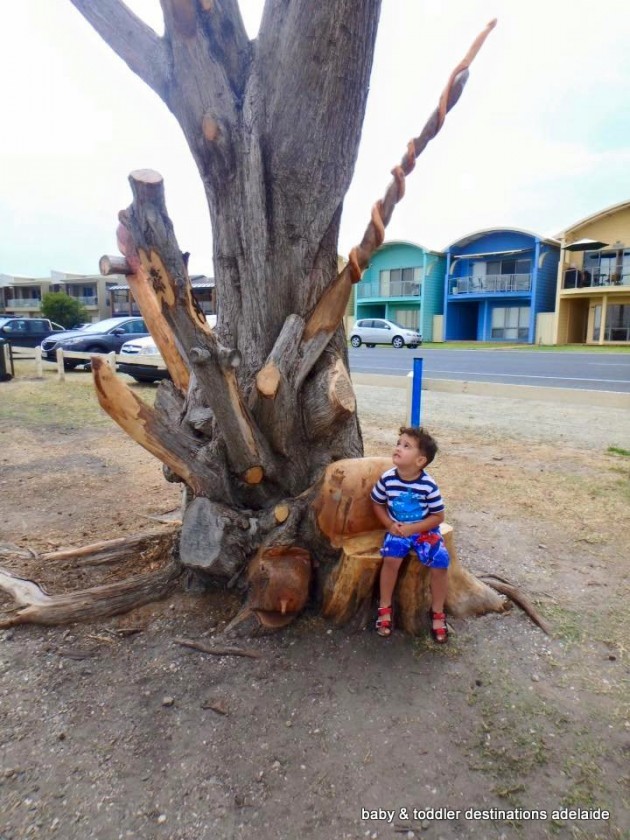
<path fill-rule="evenodd" d="M 352 373 L 356 385 L 378 388 L 411 388 L 411 376 L 386 376 L 378 373 Z M 481 397 L 509 397 L 519 400 L 622 408 L 630 411 L 630 394 L 617 391 L 582 391 L 577 388 L 540 388 L 535 385 L 508 385 L 498 382 L 471 382 L 459 379 L 423 379 L 423 391 L 450 394 L 473 394 Z"/>

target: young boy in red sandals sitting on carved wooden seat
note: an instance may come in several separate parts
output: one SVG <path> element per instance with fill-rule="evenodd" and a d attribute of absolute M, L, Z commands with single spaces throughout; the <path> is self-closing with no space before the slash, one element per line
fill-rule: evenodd
<path fill-rule="evenodd" d="M 444 601 L 449 556 L 439 530 L 444 503 L 437 484 L 424 471 L 436 452 L 437 443 L 424 429 L 402 428 L 392 456 L 394 467 L 383 473 L 370 495 L 374 513 L 387 530 L 381 548 L 379 636 L 391 635 L 398 572 L 407 554 L 415 551 L 431 570 L 431 633 L 438 644 L 448 641 Z"/>

